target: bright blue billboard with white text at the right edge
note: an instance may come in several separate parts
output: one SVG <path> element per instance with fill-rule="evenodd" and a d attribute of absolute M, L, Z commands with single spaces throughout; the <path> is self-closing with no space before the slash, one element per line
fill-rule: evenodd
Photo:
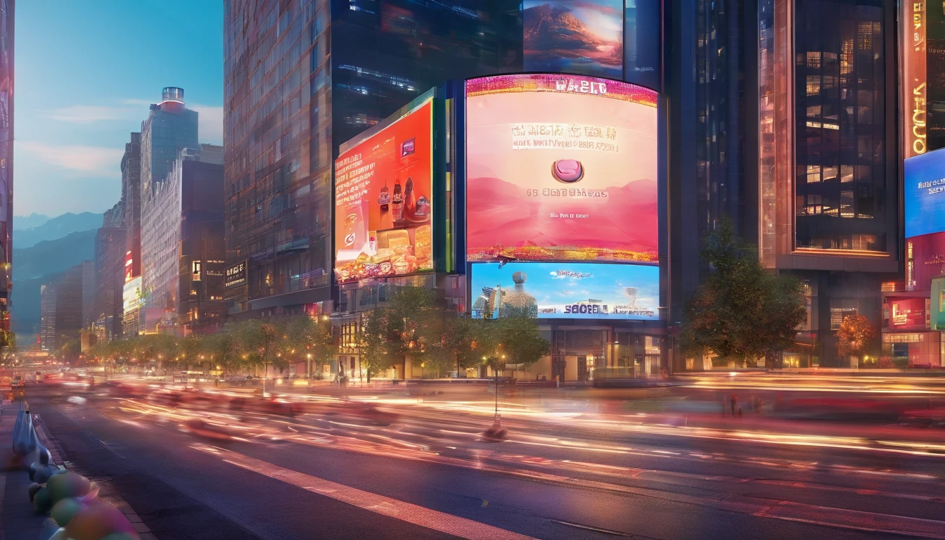
<path fill-rule="evenodd" d="M 945 231 L 945 148 L 902 162 L 905 237 Z"/>

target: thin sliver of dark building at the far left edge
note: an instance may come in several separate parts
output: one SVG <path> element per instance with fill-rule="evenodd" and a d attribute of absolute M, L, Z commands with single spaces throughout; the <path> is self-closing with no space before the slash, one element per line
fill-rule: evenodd
<path fill-rule="evenodd" d="M 14 0 L 0 0 L 0 333 L 9 332 L 13 262 Z"/>

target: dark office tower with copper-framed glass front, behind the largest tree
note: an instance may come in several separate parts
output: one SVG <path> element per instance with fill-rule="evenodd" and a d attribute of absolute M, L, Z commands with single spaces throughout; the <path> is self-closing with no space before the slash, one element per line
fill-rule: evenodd
<path fill-rule="evenodd" d="M 856 312 L 879 328 L 880 286 L 902 268 L 896 5 L 693 0 L 673 9 L 669 323 L 679 327 L 709 271 L 702 235 L 729 216 L 766 268 L 804 283 L 808 322 L 784 365 L 849 365 L 837 353 L 839 323 Z M 869 348 L 877 354 L 879 340 Z M 708 367 L 698 360 L 677 357 L 674 367 Z"/>

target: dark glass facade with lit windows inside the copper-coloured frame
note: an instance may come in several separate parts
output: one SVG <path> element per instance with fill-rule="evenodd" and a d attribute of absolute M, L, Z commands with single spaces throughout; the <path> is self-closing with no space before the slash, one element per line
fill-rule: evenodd
<path fill-rule="evenodd" d="M 885 253 L 887 81 L 883 2 L 798 0 L 796 247 Z M 893 131 L 895 133 L 895 131 Z M 892 246 L 895 237 L 888 238 Z"/>

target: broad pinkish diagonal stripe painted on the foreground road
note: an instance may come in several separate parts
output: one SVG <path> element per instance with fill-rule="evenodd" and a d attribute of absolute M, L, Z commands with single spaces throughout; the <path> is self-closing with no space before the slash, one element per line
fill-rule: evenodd
<path fill-rule="evenodd" d="M 387 515 L 387 517 L 400 519 L 426 529 L 452 534 L 459 538 L 467 538 L 468 540 L 534 540 L 531 536 L 492 527 L 465 517 L 445 514 L 403 500 L 362 491 L 331 480 L 319 479 L 230 450 L 206 444 L 192 444 L 190 447 L 209 454 L 215 454 L 223 462 L 231 463 L 271 479 L 281 480 L 318 495 L 330 496 L 335 500 L 369 510 L 375 514 Z"/>

